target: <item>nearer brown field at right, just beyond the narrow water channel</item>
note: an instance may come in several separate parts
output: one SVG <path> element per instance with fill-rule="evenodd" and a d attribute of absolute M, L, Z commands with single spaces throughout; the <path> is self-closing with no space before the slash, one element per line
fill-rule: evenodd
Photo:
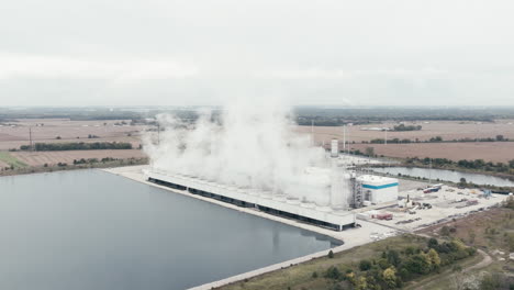
<path fill-rule="evenodd" d="M 388 157 L 431 157 L 460 159 L 483 159 L 493 163 L 507 163 L 514 159 L 514 142 L 477 143 L 413 143 L 413 144 L 350 144 L 350 148 L 365 152 L 373 147 L 375 154 Z"/>

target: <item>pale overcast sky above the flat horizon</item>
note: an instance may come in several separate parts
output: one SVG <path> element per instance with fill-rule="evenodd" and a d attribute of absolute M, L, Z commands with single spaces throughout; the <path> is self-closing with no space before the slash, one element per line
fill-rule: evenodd
<path fill-rule="evenodd" d="M 0 105 L 514 105 L 514 1 L 15 0 Z"/>

